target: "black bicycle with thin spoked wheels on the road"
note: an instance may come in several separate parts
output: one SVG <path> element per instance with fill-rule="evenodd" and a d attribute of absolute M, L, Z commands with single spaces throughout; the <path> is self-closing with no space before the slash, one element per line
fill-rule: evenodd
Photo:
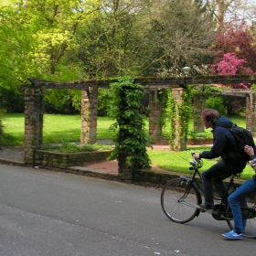
<path fill-rule="evenodd" d="M 201 212 L 205 212 L 197 206 L 202 203 L 203 189 L 200 185 L 201 175 L 198 170 L 203 166 L 203 161 L 196 161 L 195 154 L 192 153 L 192 160 L 189 161 L 189 164 L 191 165 L 189 170 L 193 171 L 192 175 L 190 177 L 179 176 L 170 180 L 161 192 L 161 207 L 166 217 L 177 223 L 187 223 L 198 217 Z M 214 199 L 217 203 L 213 210 L 207 211 L 214 219 L 226 220 L 230 229 L 233 229 L 234 221 L 229 208 L 228 197 L 238 188 L 234 182 L 236 176 L 238 175 L 230 177 L 224 196 L 222 198 L 215 196 Z M 240 202 L 240 209 L 246 227 L 244 237 L 256 238 L 255 195 Z"/>

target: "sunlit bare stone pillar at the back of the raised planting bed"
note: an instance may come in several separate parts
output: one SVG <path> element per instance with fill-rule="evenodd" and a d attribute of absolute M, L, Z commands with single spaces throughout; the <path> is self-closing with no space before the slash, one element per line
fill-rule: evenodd
<path fill-rule="evenodd" d="M 97 142 L 98 87 L 89 87 L 81 93 L 81 144 Z"/>

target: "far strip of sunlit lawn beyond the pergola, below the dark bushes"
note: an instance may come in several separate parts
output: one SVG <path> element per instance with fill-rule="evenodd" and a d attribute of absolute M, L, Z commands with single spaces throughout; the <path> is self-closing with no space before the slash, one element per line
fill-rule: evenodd
<path fill-rule="evenodd" d="M 241 127 L 245 127 L 244 116 L 228 116 L 233 123 L 237 123 Z M 4 113 L 1 116 L 4 125 L 4 145 L 17 145 L 24 142 L 24 113 Z M 66 114 L 44 114 L 44 131 L 43 143 L 60 143 L 63 139 L 69 138 L 69 141 L 80 141 L 80 115 Z M 97 119 L 97 139 L 112 139 L 114 137 L 113 130 L 110 127 L 114 123 L 109 117 L 98 117 Z M 145 129 L 148 130 L 148 119 L 144 118 Z M 170 122 L 165 119 L 165 127 L 163 134 L 169 137 Z M 212 138 L 210 129 L 206 129 L 203 133 L 197 133 L 193 130 L 193 120 L 190 118 L 188 124 L 187 138 Z"/>

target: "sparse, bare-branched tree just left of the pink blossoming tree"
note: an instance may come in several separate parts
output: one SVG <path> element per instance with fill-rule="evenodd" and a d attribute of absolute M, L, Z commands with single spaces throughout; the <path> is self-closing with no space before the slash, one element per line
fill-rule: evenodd
<path fill-rule="evenodd" d="M 161 75 L 161 70 L 178 69 L 180 74 L 185 66 L 209 62 L 214 24 L 206 6 L 200 2 L 174 0 L 153 5 L 142 73 L 155 75 L 160 71 Z"/>

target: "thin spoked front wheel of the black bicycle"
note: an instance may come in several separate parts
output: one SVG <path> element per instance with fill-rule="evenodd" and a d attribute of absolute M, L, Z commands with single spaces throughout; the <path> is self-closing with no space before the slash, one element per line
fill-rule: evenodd
<path fill-rule="evenodd" d="M 201 203 L 201 197 L 197 187 L 183 177 L 170 180 L 161 193 L 161 206 L 166 217 L 177 223 L 194 219 L 200 212 L 198 203 Z"/>

